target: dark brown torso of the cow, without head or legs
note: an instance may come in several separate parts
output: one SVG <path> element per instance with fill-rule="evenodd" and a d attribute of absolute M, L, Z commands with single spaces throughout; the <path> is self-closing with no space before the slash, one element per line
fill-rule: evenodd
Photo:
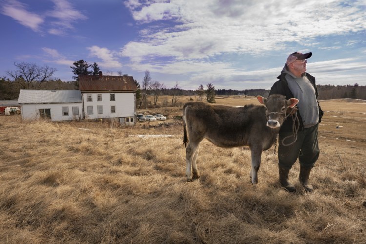
<path fill-rule="evenodd" d="M 231 107 L 188 102 L 183 107 L 183 118 L 189 140 L 206 138 L 221 147 L 262 144 L 266 137 L 272 135 L 266 126 L 265 107 L 262 105 Z"/>

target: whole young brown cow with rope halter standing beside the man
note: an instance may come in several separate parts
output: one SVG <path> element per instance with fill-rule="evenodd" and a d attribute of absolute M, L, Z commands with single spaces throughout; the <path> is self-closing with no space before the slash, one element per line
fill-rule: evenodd
<path fill-rule="evenodd" d="M 287 108 L 293 108 L 299 100 L 286 100 L 285 96 L 278 94 L 268 98 L 257 96 L 257 99 L 264 106 L 230 107 L 204 102 L 187 102 L 184 105 L 183 143 L 186 147 L 187 181 L 199 178 L 196 163 L 198 149 L 200 142 L 206 138 L 220 147 L 249 146 L 252 158 L 250 177 L 253 184 L 258 183 L 262 151 L 275 142 Z"/>

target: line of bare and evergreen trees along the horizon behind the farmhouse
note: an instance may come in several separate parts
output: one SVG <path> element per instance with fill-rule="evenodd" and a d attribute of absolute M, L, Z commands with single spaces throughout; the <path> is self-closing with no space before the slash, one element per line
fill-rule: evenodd
<path fill-rule="evenodd" d="M 6 71 L 9 77 L 0 77 L 0 100 L 16 100 L 18 99 L 20 89 L 42 89 L 42 90 L 73 90 L 78 89 L 79 75 L 97 75 L 101 69 L 97 63 L 89 64 L 84 60 L 75 61 L 73 66 L 70 66 L 74 81 L 61 81 L 54 78 L 57 71 L 55 68 L 47 65 L 39 66 L 34 63 L 15 62 L 15 70 Z M 104 72 L 111 75 L 111 71 Z M 128 76 L 118 72 L 120 76 Z M 149 105 L 157 105 L 159 96 L 171 96 L 168 102 L 170 106 L 176 106 L 177 96 L 197 96 L 200 101 L 215 103 L 215 97 L 230 96 L 230 95 L 245 95 L 245 96 L 268 96 L 269 90 L 265 89 L 218 89 L 216 90 L 213 84 L 208 83 L 205 87 L 201 84 L 195 90 L 181 89 L 178 82 L 172 88 L 167 88 L 164 83 L 153 80 L 148 70 L 145 71 L 145 76 L 139 83 L 134 80 L 137 86 L 136 101 L 139 107 L 147 107 Z M 354 85 L 317 85 L 319 100 L 336 99 L 336 98 L 355 98 L 366 100 L 366 86 L 360 86 L 358 83 Z M 152 98 L 147 99 L 147 98 Z"/>

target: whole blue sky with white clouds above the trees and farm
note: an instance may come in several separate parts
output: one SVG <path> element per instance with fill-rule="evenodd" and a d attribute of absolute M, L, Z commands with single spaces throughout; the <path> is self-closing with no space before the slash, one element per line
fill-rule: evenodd
<path fill-rule="evenodd" d="M 172 88 L 270 89 L 287 56 L 313 53 L 317 84 L 366 85 L 366 0 L 0 0 L 0 76 L 14 62 Z"/>

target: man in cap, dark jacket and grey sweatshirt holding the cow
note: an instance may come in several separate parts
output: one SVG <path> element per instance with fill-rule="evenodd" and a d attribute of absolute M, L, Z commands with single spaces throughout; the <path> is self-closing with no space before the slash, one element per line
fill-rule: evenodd
<path fill-rule="evenodd" d="M 286 99 L 299 99 L 296 113 L 300 124 L 296 124 L 296 128 L 299 127 L 296 141 L 292 144 L 296 138 L 292 116 L 285 120 L 279 132 L 278 171 L 281 186 L 289 192 L 296 191 L 295 186 L 288 180 L 288 173 L 297 158 L 300 162 L 299 181 L 306 191 L 313 191 L 309 176 L 319 157 L 318 125 L 323 111 L 317 101 L 315 78 L 306 73 L 307 59 L 311 55 L 311 52 L 290 54 L 281 75 L 277 77 L 279 80 L 273 84 L 269 92 L 269 95 L 285 95 Z"/>

